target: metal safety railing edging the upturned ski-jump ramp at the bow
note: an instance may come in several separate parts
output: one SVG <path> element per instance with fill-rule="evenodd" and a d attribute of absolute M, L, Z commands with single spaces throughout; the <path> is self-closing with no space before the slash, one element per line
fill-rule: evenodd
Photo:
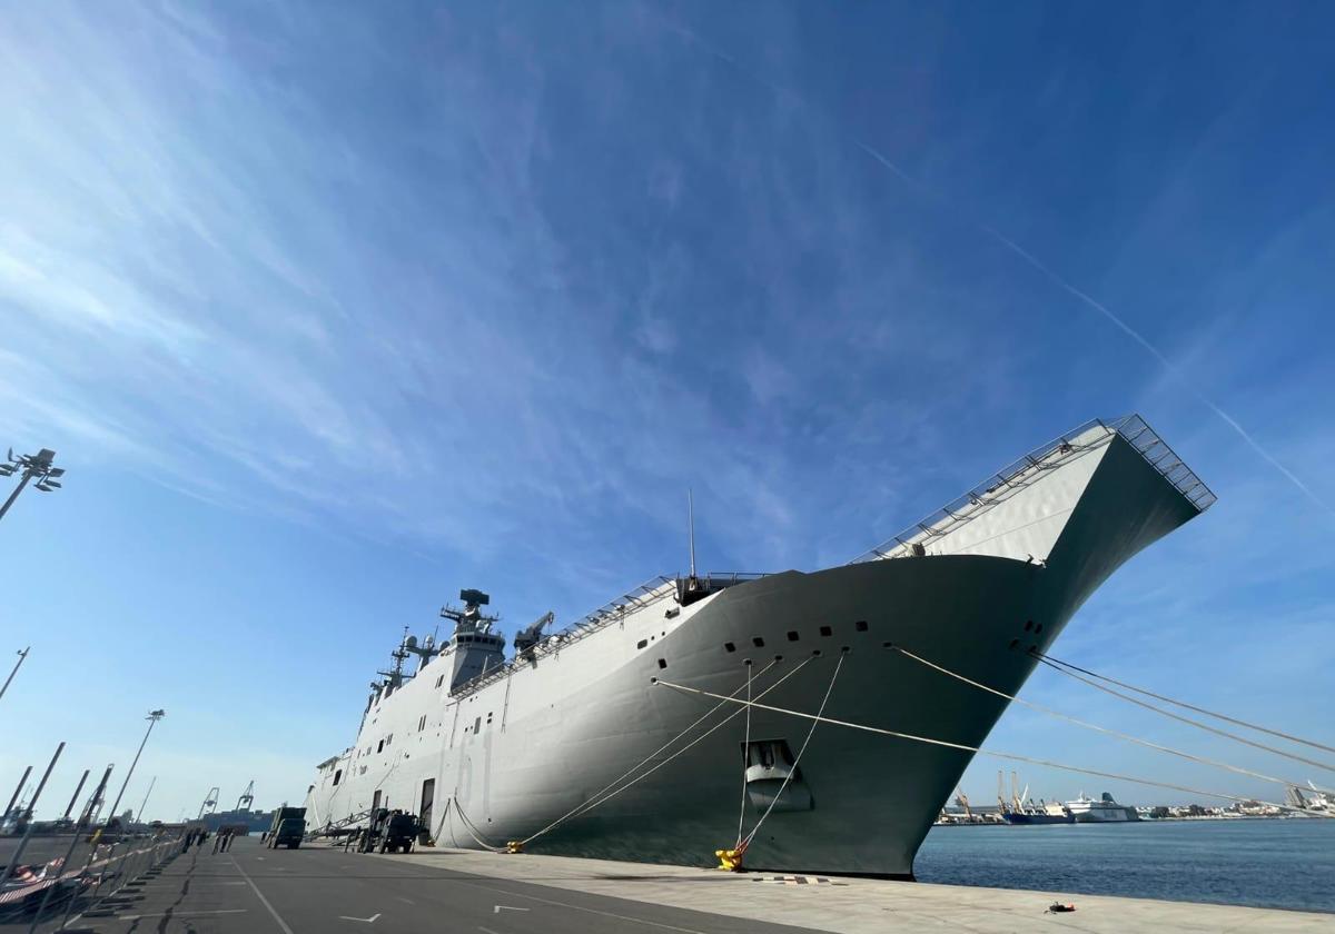
<path fill-rule="evenodd" d="M 912 554 L 916 544 L 926 547 L 933 540 L 987 512 L 1011 491 L 1021 488 L 1047 471 L 1107 443 L 1113 435 L 1121 435 L 1136 448 L 1140 456 L 1172 483 L 1187 502 L 1196 507 L 1197 512 L 1204 512 L 1215 504 L 1216 496 L 1210 491 L 1210 487 L 1173 454 L 1172 448 L 1155 434 L 1143 418 L 1125 415 L 1109 420 L 1089 419 L 1075 430 L 1053 438 L 1047 444 L 1041 444 L 1019 460 L 1007 464 L 963 496 L 951 500 L 876 548 L 858 555 L 849 564 L 881 560 L 882 558 L 904 558 Z"/>

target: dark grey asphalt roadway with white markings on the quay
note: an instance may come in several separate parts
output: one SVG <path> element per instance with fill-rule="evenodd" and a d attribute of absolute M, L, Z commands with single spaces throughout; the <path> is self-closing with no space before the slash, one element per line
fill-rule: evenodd
<path fill-rule="evenodd" d="M 75 915 L 64 930 L 100 934 L 796 934 L 806 930 L 324 846 L 268 850 L 258 839 L 239 838 L 231 853 L 214 854 L 211 845 L 212 841 L 175 857 L 143 885 L 132 883 L 109 902 Z M 55 922 L 45 922 L 37 930 L 45 933 L 53 926 Z"/>

